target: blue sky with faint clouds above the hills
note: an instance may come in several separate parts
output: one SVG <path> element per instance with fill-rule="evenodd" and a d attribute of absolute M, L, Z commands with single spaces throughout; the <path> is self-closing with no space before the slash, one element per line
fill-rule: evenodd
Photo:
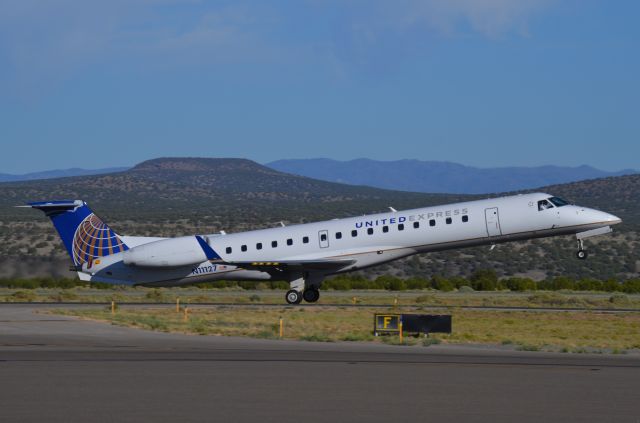
<path fill-rule="evenodd" d="M 640 2 L 0 0 L 0 173 L 159 156 L 640 168 Z"/>

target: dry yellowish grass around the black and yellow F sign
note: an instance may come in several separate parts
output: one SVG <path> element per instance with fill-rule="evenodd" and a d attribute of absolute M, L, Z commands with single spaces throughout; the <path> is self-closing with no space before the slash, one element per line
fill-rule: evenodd
<path fill-rule="evenodd" d="M 374 341 L 397 343 L 396 337 L 374 337 L 373 314 L 379 309 L 342 307 L 192 308 L 188 321 L 172 308 L 56 310 L 80 316 L 166 332 L 200 335 L 284 338 L 308 341 Z M 417 312 L 413 310 L 413 312 Z M 515 349 L 565 352 L 626 352 L 640 349 L 640 313 L 525 312 L 453 310 L 453 333 L 434 334 L 424 343 L 493 344 Z M 407 337 L 407 344 L 418 339 Z"/>

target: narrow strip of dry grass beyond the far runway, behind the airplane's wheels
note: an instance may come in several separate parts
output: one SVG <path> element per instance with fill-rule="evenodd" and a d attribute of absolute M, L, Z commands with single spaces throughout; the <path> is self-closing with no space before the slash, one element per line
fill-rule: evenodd
<path fill-rule="evenodd" d="M 21 289 L 0 288 L 0 302 L 23 302 Z M 284 304 L 284 291 L 271 289 L 198 289 L 120 287 L 99 290 L 77 287 L 69 290 L 35 289 L 28 301 L 118 303 L 174 303 L 177 298 L 188 303 Z M 62 293 L 62 295 L 61 295 Z M 590 292 L 439 292 L 439 291 L 322 291 L 319 304 L 359 304 L 398 306 L 490 306 L 635 309 L 640 311 L 640 295 Z"/>

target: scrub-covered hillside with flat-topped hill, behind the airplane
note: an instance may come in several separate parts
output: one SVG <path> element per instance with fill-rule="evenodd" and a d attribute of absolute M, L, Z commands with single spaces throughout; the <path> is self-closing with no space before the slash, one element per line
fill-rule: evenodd
<path fill-rule="evenodd" d="M 434 253 L 374 268 L 399 276 L 468 275 L 495 268 L 505 275 L 544 278 L 638 276 L 640 176 L 620 176 L 541 188 L 576 204 L 624 219 L 614 236 L 589 242 L 591 257 L 574 258 L 565 237 Z M 118 232 L 176 236 L 228 232 L 485 196 L 422 194 L 324 182 L 281 173 L 250 160 L 162 158 L 118 173 L 0 183 L 0 277 L 67 274 L 68 259 L 39 212 L 11 206 L 43 199 L 83 199 Z"/>

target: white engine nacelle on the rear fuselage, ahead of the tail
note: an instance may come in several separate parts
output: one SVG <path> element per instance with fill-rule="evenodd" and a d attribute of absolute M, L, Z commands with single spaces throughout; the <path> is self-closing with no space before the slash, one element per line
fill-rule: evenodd
<path fill-rule="evenodd" d="M 163 239 L 123 252 L 122 262 L 139 267 L 188 266 L 210 260 L 212 257 L 207 256 L 205 249 L 213 252 L 202 238 L 196 236 Z"/>

